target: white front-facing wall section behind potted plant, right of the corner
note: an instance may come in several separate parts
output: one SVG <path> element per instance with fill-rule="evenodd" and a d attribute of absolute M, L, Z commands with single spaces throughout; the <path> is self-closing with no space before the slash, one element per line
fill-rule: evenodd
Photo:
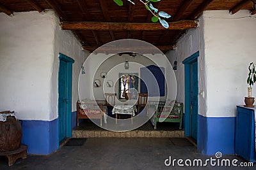
<path fill-rule="evenodd" d="M 207 117 L 234 117 L 236 105 L 244 104 L 248 66 L 256 62 L 256 16 L 249 16 L 248 10 L 204 12 Z"/>

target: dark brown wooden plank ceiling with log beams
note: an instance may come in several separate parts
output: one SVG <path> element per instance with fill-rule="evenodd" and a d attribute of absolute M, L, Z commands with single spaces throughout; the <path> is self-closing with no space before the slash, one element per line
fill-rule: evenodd
<path fill-rule="evenodd" d="M 141 39 L 166 52 L 172 50 L 177 39 L 191 27 L 204 10 L 250 10 L 255 14 L 256 0 L 161 0 L 154 6 L 172 15 L 166 19 L 169 29 L 152 23 L 152 14 L 139 0 L 136 5 L 124 1 L 118 6 L 113 0 L 0 0 L 0 12 L 54 10 L 62 29 L 74 31 L 85 50 L 93 51 L 100 45 L 117 39 Z M 15 17 L 15 16 L 14 16 Z"/>

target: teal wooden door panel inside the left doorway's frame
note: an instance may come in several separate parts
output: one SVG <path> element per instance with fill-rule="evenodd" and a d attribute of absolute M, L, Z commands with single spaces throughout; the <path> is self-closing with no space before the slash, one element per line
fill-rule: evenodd
<path fill-rule="evenodd" d="M 67 121 L 67 62 L 60 60 L 59 69 L 59 141 L 66 138 Z"/>

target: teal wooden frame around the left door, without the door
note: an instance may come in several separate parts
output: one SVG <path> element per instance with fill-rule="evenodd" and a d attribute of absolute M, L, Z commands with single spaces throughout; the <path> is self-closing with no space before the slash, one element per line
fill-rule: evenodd
<path fill-rule="evenodd" d="M 67 57 L 67 55 L 64 55 L 62 53 L 59 53 L 59 60 L 62 60 L 64 62 L 67 62 L 67 109 L 66 109 L 66 137 L 72 137 L 72 118 L 71 118 L 71 112 L 72 112 L 72 64 L 75 62 L 70 57 Z M 60 76 L 60 69 L 59 69 L 59 76 Z M 60 84 L 59 84 L 60 86 Z M 59 106 L 58 106 L 59 107 Z M 59 120 L 59 118 L 58 118 Z M 58 122 L 59 124 L 60 122 Z M 59 126 L 58 126 L 59 127 Z M 58 129 L 59 134 L 60 129 Z M 60 135 L 60 134 L 59 134 Z M 59 139 L 59 138 L 58 138 Z M 59 139 L 60 140 L 60 139 Z M 60 143 L 60 141 L 59 141 Z"/>

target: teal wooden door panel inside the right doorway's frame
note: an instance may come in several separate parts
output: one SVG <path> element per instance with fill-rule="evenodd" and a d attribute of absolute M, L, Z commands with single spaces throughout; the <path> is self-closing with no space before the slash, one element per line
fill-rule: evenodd
<path fill-rule="evenodd" d="M 198 62 L 191 63 L 191 137 L 197 140 L 198 122 Z"/>

